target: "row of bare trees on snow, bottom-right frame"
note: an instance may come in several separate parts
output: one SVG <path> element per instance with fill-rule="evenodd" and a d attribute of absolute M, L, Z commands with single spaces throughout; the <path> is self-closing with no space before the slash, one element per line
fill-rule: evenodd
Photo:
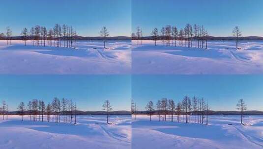
<path fill-rule="evenodd" d="M 131 109 L 134 120 L 136 120 L 138 111 L 136 103 L 133 100 Z M 177 122 L 208 124 L 209 105 L 208 101 L 205 102 L 204 98 L 193 97 L 191 99 L 185 96 L 182 101 L 177 102 L 177 104 L 175 104 L 173 99 L 163 98 L 158 100 L 155 105 L 153 101 L 150 100 L 147 102 L 145 109 L 146 114 L 150 117 L 150 121 L 152 115 L 158 115 L 159 121 L 174 122 L 175 115 Z M 244 111 L 247 110 L 244 99 L 238 100 L 236 109 L 240 111 L 240 124 L 244 124 Z"/>

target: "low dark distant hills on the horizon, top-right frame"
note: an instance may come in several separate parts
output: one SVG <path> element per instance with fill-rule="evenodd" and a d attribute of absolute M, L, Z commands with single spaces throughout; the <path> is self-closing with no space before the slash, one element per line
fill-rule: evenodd
<path fill-rule="evenodd" d="M 159 36 L 158 40 L 164 39 L 164 36 Z M 195 39 L 194 37 L 192 38 L 193 40 Z M 236 37 L 230 36 L 230 37 L 214 37 L 214 36 L 205 36 L 205 40 L 235 40 Z M 263 37 L 259 36 L 247 36 L 247 37 L 239 37 L 239 40 L 263 40 Z M 136 37 L 132 37 L 132 40 L 137 40 Z M 146 36 L 143 37 L 142 40 L 154 40 L 152 36 Z"/>

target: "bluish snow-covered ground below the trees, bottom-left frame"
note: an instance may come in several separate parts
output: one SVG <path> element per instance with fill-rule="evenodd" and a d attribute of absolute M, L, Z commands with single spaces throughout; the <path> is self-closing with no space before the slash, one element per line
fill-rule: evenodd
<path fill-rule="evenodd" d="M 0 118 L 0 149 L 131 149 L 131 116 L 78 116 L 77 124 Z M 62 117 L 60 118 L 62 120 Z"/>

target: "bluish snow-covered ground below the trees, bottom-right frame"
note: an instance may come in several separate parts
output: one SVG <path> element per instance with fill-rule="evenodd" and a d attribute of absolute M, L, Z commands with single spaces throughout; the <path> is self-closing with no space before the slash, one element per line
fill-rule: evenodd
<path fill-rule="evenodd" d="M 132 149 L 263 149 L 263 115 L 246 116 L 245 126 L 238 115 L 209 116 L 208 125 L 159 122 L 156 115 L 152 122 L 146 115 L 136 117 Z"/>

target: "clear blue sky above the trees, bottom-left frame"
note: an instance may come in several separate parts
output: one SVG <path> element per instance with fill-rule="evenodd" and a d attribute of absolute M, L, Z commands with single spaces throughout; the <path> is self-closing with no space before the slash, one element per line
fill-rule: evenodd
<path fill-rule="evenodd" d="M 54 97 L 72 99 L 84 111 L 101 111 L 106 99 L 115 111 L 131 109 L 130 75 L 0 75 L 0 82 L 0 102 L 10 111 L 21 101 Z"/>

